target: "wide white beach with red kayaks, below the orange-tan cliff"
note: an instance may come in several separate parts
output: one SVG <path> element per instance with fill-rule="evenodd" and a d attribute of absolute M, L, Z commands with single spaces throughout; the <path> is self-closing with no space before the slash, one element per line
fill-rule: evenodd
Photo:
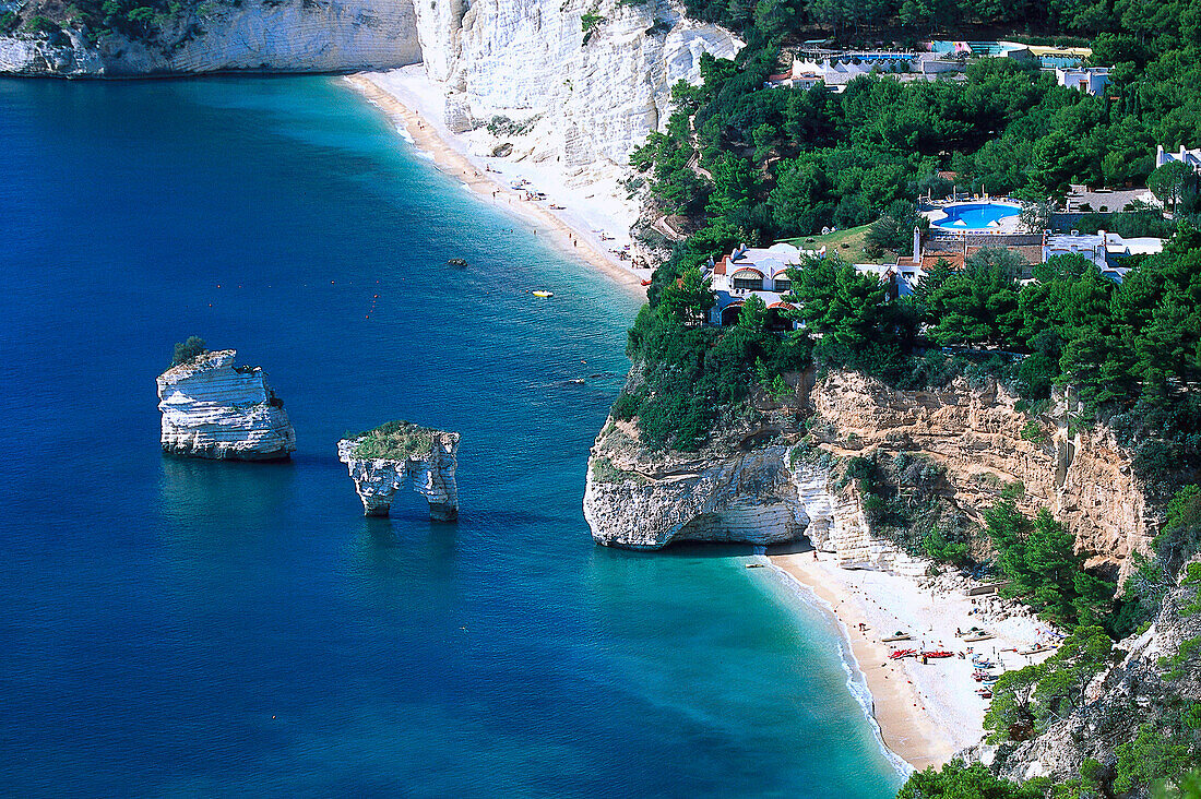
<path fill-rule="evenodd" d="M 771 564 L 830 606 L 843 622 L 852 651 L 872 693 L 873 712 L 885 745 L 921 770 L 946 763 L 955 752 L 979 743 L 988 702 L 976 694 L 980 684 L 968 657 L 890 660 L 894 646 L 982 654 L 1005 669 L 1039 662 L 1052 652 L 1018 655 L 1045 637 L 1046 626 L 1034 619 L 1008 615 L 994 598 L 967 597 L 921 588 L 908 577 L 884 572 L 844 570 L 835 556 L 813 551 L 772 554 Z M 864 628 L 860 628 L 860 624 Z M 996 637 L 968 644 L 955 633 L 973 626 Z M 885 644 L 880 638 L 896 631 L 913 640 Z M 996 672 L 994 672 L 996 673 Z"/>

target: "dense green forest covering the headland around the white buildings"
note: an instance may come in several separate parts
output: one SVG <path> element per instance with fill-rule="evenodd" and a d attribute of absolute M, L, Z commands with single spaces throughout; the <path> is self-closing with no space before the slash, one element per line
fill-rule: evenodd
<path fill-rule="evenodd" d="M 938 387 L 957 376 L 997 380 L 1022 398 L 1018 410 L 1032 418 L 1054 392 L 1078 399 L 1082 411 L 1070 424 L 1109 424 L 1133 453 L 1148 496 L 1166 508 L 1154 553 L 1137 559 L 1122 591 L 1085 570 L 1085 554 L 1051 513 L 1026 518 L 1010 500 L 992 508 L 976 533 L 990 542 L 990 562 L 968 556 L 962 530 L 931 529 L 908 542 L 936 561 L 991 570 L 1008 580 L 1010 596 L 1071 631 L 1054 657 L 1008 673 L 996 687 L 986 718 L 991 741 L 1008 746 L 1035 737 L 1083 708 L 1083 686 L 1121 656 L 1116 642 L 1145 630 L 1179 579 L 1185 592 L 1201 588 L 1201 570 L 1188 566 L 1201 550 L 1201 490 L 1190 484 L 1201 469 L 1201 199 L 1191 172 L 1153 171 L 1157 144 L 1201 144 L 1201 2 L 688 5 L 693 16 L 741 32 L 748 46 L 734 61 L 705 58 L 704 83 L 675 87 L 676 112 L 665 131 L 634 154 L 629 187 L 645 189 L 688 235 L 656 270 L 649 304 L 629 332 L 638 380 L 614 416 L 634 421 L 651 447 L 698 449 L 723 425 L 753 423 L 748 400 L 787 395 L 783 376 L 806 368 L 860 370 L 900 388 Z M 946 19 L 962 28 L 946 31 Z M 1088 96 L 1056 85 L 1036 66 L 982 59 L 969 62 L 958 82 L 867 76 L 843 94 L 763 88 L 766 76 L 787 68 L 782 53 L 805 40 L 913 46 L 936 31 L 1087 44 L 1092 62 L 1112 67 L 1112 83 L 1105 96 Z M 812 258 L 789 275 L 797 329 L 773 332 L 753 297 L 736 323 L 705 324 L 715 304 L 705 276 L 711 258 L 741 243 L 766 246 L 826 226 L 861 225 L 872 226 L 868 245 L 909 255 L 913 227 L 921 225 L 914 202 L 927 192 L 946 196 L 948 173 L 960 190 L 987 187 L 1035 205 L 1062 198 L 1070 184 L 1147 185 L 1170 199 L 1171 220 L 1148 209 L 1111 209 L 1118 213 L 1078 225 L 1171 238 L 1161 254 L 1128 261 L 1133 268 L 1122 284 L 1080 256 L 1032 267 L 1014 252 L 985 249 L 962 269 L 926 267 L 907 297 L 836 255 Z M 651 233 L 646 239 L 665 244 Z M 1034 280 L 1018 280 L 1023 272 Z M 1030 435 L 1039 435 L 1034 428 Z M 882 467 L 853 460 L 847 477 L 859 479 L 865 502 L 903 527 L 904 514 L 890 515 L 888 491 L 873 494 Z M 906 535 L 913 538 L 912 530 Z M 1170 609 L 1181 616 L 1199 610 L 1196 598 Z M 1165 662 L 1164 679 L 1171 684 L 1196 668 L 1199 655 L 1201 638 L 1184 642 Z M 1201 705 L 1165 696 L 1131 740 L 1105 763 L 1086 761 L 1066 785 L 1014 783 L 984 765 L 952 762 L 915 774 L 900 795 L 1195 797 L 1199 758 Z"/>

